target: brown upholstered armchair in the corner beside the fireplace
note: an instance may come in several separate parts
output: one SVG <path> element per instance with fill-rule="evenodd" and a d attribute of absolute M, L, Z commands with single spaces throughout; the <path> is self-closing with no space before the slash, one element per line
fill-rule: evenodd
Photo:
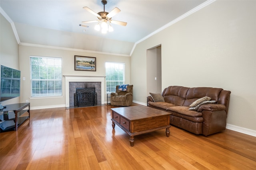
<path fill-rule="evenodd" d="M 116 92 L 111 93 L 110 103 L 113 106 L 130 106 L 132 104 L 132 88 L 133 85 L 128 85 L 126 91 L 118 90 L 119 86 L 116 86 Z"/>

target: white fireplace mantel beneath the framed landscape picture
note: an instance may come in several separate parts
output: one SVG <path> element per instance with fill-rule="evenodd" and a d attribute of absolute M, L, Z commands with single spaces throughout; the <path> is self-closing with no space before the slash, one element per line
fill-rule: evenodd
<path fill-rule="evenodd" d="M 101 82 L 101 103 L 104 104 L 105 76 L 64 76 L 66 107 L 69 107 L 69 82 Z"/>

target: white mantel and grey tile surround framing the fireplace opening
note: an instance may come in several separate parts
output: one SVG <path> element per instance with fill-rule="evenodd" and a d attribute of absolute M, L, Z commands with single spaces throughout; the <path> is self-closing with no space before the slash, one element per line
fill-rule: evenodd
<path fill-rule="evenodd" d="M 74 107 L 76 88 L 95 87 L 98 105 L 104 104 L 105 76 L 65 76 L 66 107 Z"/>

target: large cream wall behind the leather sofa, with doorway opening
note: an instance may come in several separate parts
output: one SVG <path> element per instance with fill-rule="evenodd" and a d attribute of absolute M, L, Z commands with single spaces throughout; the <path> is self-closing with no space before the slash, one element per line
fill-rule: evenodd
<path fill-rule="evenodd" d="M 161 44 L 162 90 L 230 90 L 227 123 L 255 131 L 255 7 L 256 1 L 216 1 L 139 43 L 131 57 L 134 100 L 146 103 L 146 50 Z"/>

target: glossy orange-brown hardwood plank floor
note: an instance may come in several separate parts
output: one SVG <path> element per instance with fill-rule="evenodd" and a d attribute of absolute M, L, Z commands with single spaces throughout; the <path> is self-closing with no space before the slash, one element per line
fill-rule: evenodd
<path fill-rule="evenodd" d="M 138 104 L 133 104 L 133 106 Z M 231 130 L 205 137 L 178 127 L 134 137 L 112 129 L 113 106 L 30 111 L 0 133 L 1 170 L 252 170 L 256 137 Z"/>

